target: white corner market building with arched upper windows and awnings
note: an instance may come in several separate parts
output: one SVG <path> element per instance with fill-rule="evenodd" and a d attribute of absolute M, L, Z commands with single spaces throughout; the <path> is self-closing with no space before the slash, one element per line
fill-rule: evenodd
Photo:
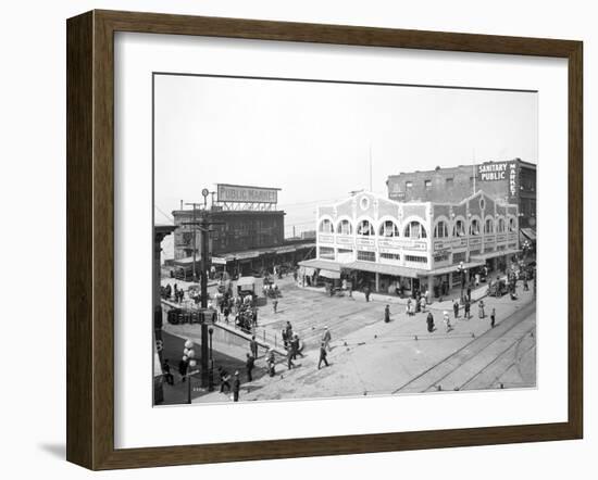
<path fill-rule="evenodd" d="M 397 202 L 362 192 L 317 207 L 316 258 L 303 275 L 349 278 L 382 292 L 461 285 L 519 252 L 519 207 L 477 191 L 459 202 Z"/>

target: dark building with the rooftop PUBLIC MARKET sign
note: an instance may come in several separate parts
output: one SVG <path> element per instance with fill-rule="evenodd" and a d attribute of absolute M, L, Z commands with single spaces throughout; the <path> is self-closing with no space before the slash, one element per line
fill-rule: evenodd
<path fill-rule="evenodd" d="M 314 241 L 285 241 L 285 212 L 277 210 L 278 189 L 220 184 L 219 197 L 202 210 L 172 212 L 174 265 L 196 271 L 201 260 L 201 233 L 192 224 L 201 216 L 211 223 L 211 263 L 231 275 L 250 275 L 274 265 L 292 264 L 309 257 Z"/>

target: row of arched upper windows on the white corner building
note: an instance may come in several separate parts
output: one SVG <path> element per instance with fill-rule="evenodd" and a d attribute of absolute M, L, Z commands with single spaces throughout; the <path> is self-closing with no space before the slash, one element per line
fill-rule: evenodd
<path fill-rule="evenodd" d="M 484 235 L 489 233 L 504 233 L 507 231 L 507 225 L 504 218 L 499 217 L 497 220 L 494 218 L 486 218 L 484 223 Z M 509 218 L 509 231 L 515 231 L 515 219 Z M 321 233 L 335 233 L 335 228 L 332 220 L 325 218 L 320 223 L 319 231 Z M 357 235 L 363 237 L 375 236 L 375 229 L 372 222 L 362 219 L 357 225 Z M 336 233 L 352 235 L 353 226 L 348 219 L 340 220 L 336 226 Z M 434 227 L 434 238 L 447 238 L 447 237 L 464 237 L 465 235 L 478 236 L 482 233 L 482 225 L 479 219 L 472 218 L 469 228 L 465 227 L 465 220 L 458 218 L 453 226 L 452 231 L 449 235 L 449 226 L 445 220 L 438 220 Z M 385 220 L 378 227 L 378 237 L 401 237 L 398 225 L 393 220 Z M 418 222 L 412 220 L 403 228 L 402 237 L 406 238 L 427 238 L 427 232 L 424 226 Z"/>

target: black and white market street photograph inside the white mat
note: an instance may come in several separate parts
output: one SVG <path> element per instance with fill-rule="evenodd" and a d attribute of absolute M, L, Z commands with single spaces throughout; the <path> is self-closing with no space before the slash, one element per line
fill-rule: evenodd
<path fill-rule="evenodd" d="M 154 406 L 537 387 L 537 91 L 152 84 Z"/>

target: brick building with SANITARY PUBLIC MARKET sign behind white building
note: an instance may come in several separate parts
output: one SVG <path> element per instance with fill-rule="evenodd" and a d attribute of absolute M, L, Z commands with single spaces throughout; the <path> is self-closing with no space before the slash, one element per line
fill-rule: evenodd
<path fill-rule="evenodd" d="M 514 159 L 390 175 L 388 198 L 399 202 L 460 202 L 477 190 L 519 206 L 524 237 L 536 240 L 536 165 Z"/>

